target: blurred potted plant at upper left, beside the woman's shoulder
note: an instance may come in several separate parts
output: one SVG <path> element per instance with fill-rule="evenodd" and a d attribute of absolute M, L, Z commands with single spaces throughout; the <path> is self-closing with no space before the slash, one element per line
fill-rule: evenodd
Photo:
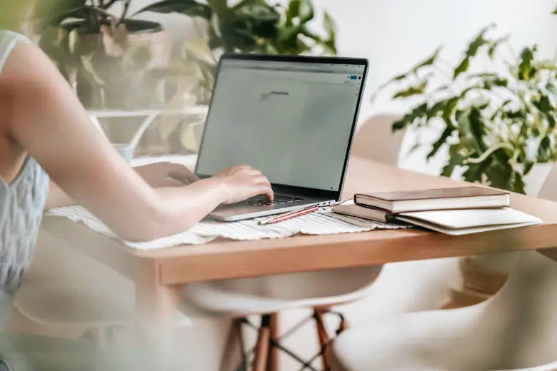
<path fill-rule="evenodd" d="M 121 5 L 119 14 L 111 11 L 116 5 Z M 149 72 L 166 67 L 172 41 L 161 24 L 129 19 L 130 5 L 131 0 L 36 2 L 39 46 L 88 108 L 156 104 L 156 81 Z M 139 86 L 131 88 L 130 84 Z"/>

